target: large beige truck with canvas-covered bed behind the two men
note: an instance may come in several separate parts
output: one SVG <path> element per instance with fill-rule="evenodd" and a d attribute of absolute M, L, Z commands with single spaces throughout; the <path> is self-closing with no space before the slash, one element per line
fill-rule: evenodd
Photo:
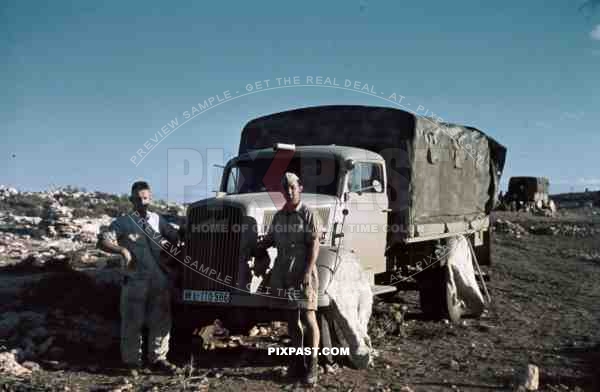
<path fill-rule="evenodd" d="M 319 106 L 254 119 L 216 197 L 188 207 L 180 314 L 243 331 L 288 306 L 261 289 L 253 247 L 281 206 L 281 175 L 292 171 L 322 226 L 319 309 L 330 305 L 336 261 L 352 254 L 375 295 L 419 289 L 424 310 L 441 315 L 445 281 L 432 255 L 444 238 L 468 235 L 490 264 L 489 213 L 505 155 L 478 129 L 395 108 Z M 275 256 L 271 249 L 270 266 Z"/>

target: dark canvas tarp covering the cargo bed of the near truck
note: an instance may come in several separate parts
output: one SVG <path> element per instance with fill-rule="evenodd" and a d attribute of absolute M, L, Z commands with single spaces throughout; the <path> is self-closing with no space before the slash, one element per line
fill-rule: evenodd
<path fill-rule="evenodd" d="M 387 165 L 388 223 L 407 228 L 488 215 L 506 157 L 506 148 L 478 129 L 370 106 L 318 106 L 257 118 L 244 127 L 239 153 L 275 143 L 380 154 Z"/>

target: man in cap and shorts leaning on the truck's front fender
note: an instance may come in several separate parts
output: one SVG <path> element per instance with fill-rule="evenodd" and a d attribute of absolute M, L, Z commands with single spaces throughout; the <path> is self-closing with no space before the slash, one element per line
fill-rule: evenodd
<path fill-rule="evenodd" d="M 268 234 L 259 243 L 258 248 L 277 248 L 270 286 L 274 290 L 273 293 L 285 293 L 289 300 L 295 302 L 296 309 L 288 315 L 292 347 L 304 347 L 304 336 L 308 347 L 311 348 L 311 355 L 291 356 L 288 375 L 293 378 L 302 377 L 306 384 L 314 385 L 318 378 L 320 341 L 316 317 L 319 289 L 319 222 L 300 200 L 302 184 L 298 176 L 285 173 L 282 185 L 286 203 L 273 217 Z"/>

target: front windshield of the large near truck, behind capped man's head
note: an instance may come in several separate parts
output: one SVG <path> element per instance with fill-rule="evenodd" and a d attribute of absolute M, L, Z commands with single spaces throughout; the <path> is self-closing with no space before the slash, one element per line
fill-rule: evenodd
<path fill-rule="evenodd" d="M 267 192 L 277 189 L 269 189 L 279 186 L 279 181 L 275 184 L 265 184 L 267 173 L 289 171 L 296 173 L 304 186 L 305 193 L 319 193 L 326 195 L 335 195 L 337 193 L 337 178 L 339 164 L 332 158 L 318 157 L 298 157 L 295 156 L 291 161 L 289 159 L 279 159 L 274 161 L 273 157 L 256 158 L 255 160 L 239 161 L 232 166 L 226 173 L 225 192 L 227 194 Z M 287 163 L 289 161 L 289 163 Z M 281 166 L 283 168 L 275 170 Z M 272 167 L 272 168 L 271 168 Z M 269 171 L 271 168 L 271 171 Z M 272 181 L 272 180 L 271 180 Z M 268 180 L 266 182 L 269 182 Z"/>

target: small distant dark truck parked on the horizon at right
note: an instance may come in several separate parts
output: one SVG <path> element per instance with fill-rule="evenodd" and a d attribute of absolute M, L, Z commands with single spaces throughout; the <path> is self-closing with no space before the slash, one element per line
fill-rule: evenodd
<path fill-rule="evenodd" d="M 511 177 L 504 202 L 512 211 L 549 208 L 549 188 L 546 177 Z"/>

